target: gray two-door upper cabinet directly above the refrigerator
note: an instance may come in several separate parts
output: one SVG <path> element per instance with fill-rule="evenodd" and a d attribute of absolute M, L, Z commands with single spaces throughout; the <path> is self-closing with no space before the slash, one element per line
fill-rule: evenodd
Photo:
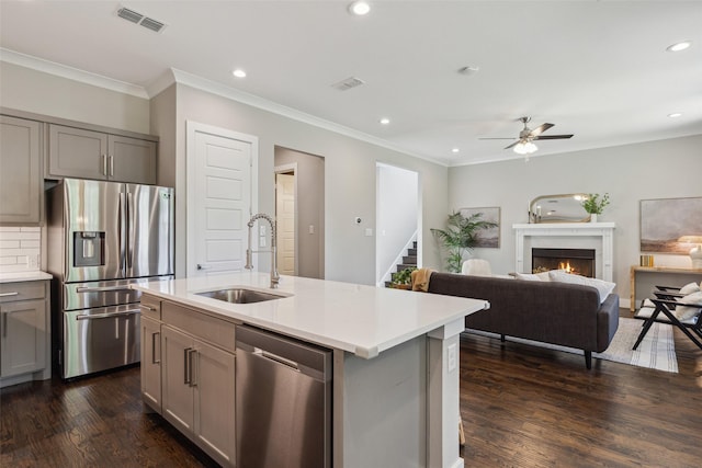
<path fill-rule="evenodd" d="M 155 141 L 49 124 L 47 178 L 156 184 Z"/>

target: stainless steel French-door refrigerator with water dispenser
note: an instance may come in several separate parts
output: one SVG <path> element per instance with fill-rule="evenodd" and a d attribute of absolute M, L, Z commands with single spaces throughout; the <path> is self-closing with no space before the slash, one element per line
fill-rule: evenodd
<path fill-rule="evenodd" d="M 53 359 L 63 378 L 139 361 L 140 293 L 173 277 L 173 189 L 65 179 L 47 192 Z"/>

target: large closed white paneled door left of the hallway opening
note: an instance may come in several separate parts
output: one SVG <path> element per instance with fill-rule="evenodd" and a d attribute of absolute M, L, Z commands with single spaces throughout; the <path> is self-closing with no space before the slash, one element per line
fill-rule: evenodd
<path fill-rule="evenodd" d="M 212 128 L 189 135 L 194 155 L 189 155 L 188 172 L 188 274 L 240 272 L 252 210 L 256 137 Z"/>

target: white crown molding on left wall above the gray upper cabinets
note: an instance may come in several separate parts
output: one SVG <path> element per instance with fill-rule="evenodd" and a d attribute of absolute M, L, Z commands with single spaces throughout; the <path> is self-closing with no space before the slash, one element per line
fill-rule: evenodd
<path fill-rule="evenodd" d="M 55 75 L 57 77 L 129 94 L 136 98 L 148 99 L 148 94 L 143 87 L 114 80 L 89 71 L 79 70 L 78 68 L 68 67 L 66 65 L 33 57 L 31 55 L 21 54 L 3 47 L 0 47 L 0 61 L 7 61 L 8 64 L 19 65 L 20 67 L 31 68 L 44 73 Z"/>

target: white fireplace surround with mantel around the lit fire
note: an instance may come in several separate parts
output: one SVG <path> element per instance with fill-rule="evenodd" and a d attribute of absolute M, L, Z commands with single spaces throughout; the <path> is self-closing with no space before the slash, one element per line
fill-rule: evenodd
<path fill-rule="evenodd" d="M 512 225 L 517 240 L 516 271 L 531 273 L 531 249 L 595 249 L 595 276 L 612 282 L 614 222 Z"/>

